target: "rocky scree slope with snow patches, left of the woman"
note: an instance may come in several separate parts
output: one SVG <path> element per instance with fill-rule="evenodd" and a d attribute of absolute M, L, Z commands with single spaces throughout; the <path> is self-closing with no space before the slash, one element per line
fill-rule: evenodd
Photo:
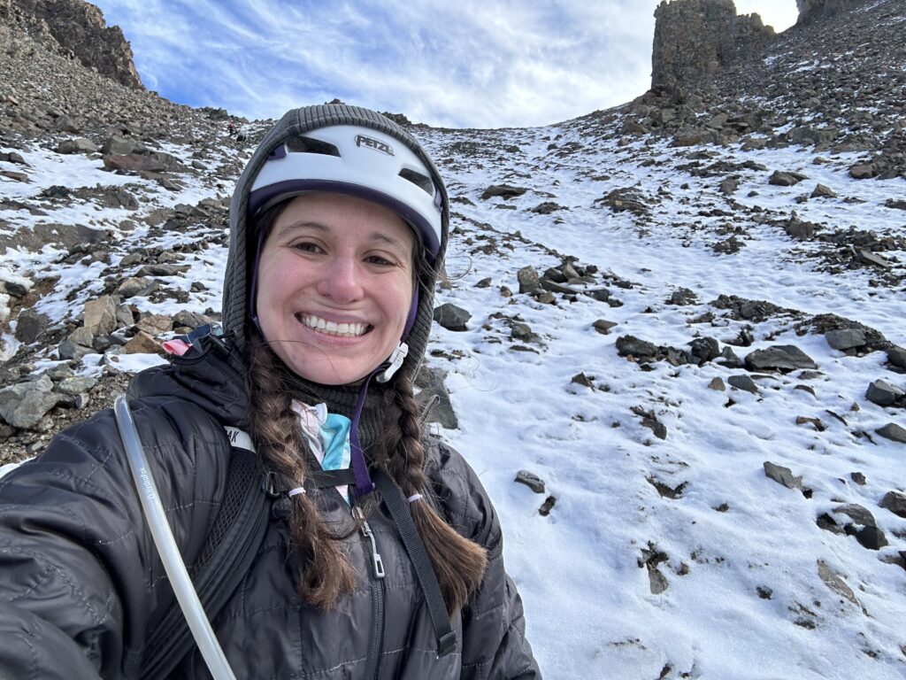
<path fill-rule="evenodd" d="M 222 110 L 173 104 L 140 89 L 137 81 L 123 84 L 115 72 L 102 72 L 95 64 L 110 51 L 110 33 L 92 5 L 19 2 L 0 5 L 0 12 L 5 13 L 0 24 L 0 73 L 5 74 L 0 83 L 0 248 L 5 250 L 0 263 L 5 334 L 0 356 L 5 364 L 0 375 L 3 384 L 11 385 L 33 374 L 35 355 L 45 355 L 83 327 L 82 307 L 115 292 L 121 278 L 117 272 L 137 274 L 132 278 L 139 281 L 149 271 L 157 277 L 183 274 L 187 267 L 174 264 L 180 250 L 225 242 L 228 193 L 265 124 L 250 125 Z M 89 52 L 103 45 L 100 58 L 87 60 L 91 68 L 53 37 L 48 13 L 56 20 L 87 17 L 82 24 L 67 25 L 73 40 L 93 36 L 82 43 Z M 120 56 L 129 59 L 134 71 L 128 44 Z M 230 121 L 239 129 L 232 136 L 227 133 Z M 198 230 L 192 232 L 189 224 Z M 187 245 L 180 245 L 180 239 Z M 166 246 L 155 245 L 161 242 Z M 140 266 L 127 268 L 130 260 L 123 262 L 124 256 L 138 257 Z M 95 280 L 79 278 L 77 271 Z M 159 303 L 166 298 L 156 292 L 161 287 L 166 284 L 148 280 L 140 287 L 142 299 Z M 181 293 L 170 292 L 183 299 Z M 200 311 L 219 308 L 213 295 Z M 128 296 L 118 299 L 124 302 Z M 40 311 L 48 306 L 55 307 Z M 126 307 L 119 310 L 120 326 L 131 318 Z M 133 306 L 129 314 L 135 316 L 128 324 L 132 335 L 141 312 Z M 198 321 L 191 316 L 188 324 Z M 99 327 L 113 330 L 107 325 L 105 319 Z M 90 339 L 83 341 L 86 345 L 79 345 L 82 349 L 71 359 L 84 354 L 86 346 L 92 348 Z M 98 346 L 109 347 L 107 342 Z M 101 375 L 100 382 L 59 366 L 52 373 L 52 393 L 0 397 L 4 409 L 11 401 L 18 404 L 15 414 L 4 411 L 0 425 L 3 460 L 39 451 L 50 434 L 108 405 L 126 382 L 118 371 Z M 61 387 L 67 378 L 78 379 Z M 30 405 L 33 402 L 36 405 Z"/>

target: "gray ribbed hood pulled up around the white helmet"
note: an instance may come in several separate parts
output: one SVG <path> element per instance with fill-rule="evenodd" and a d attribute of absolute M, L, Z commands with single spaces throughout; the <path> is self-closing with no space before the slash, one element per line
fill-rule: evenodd
<path fill-rule="evenodd" d="M 361 107 L 347 106 L 345 104 L 323 104 L 306 106 L 286 112 L 283 118 L 267 132 L 264 140 L 255 150 L 251 160 L 246 165 L 246 169 L 243 170 L 236 183 L 236 191 L 233 193 L 233 199 L 230 203 L 230 246 L 224 277 L 223 318 L 221 323 L 225 332 L 233 332 L 235 342 L 240 347 L 245 345 L 246 339 L 254 327 L 249 316 L 249 296 L 254 274 L 253 268 L 255 267 L 255 249 L 257 248 L 258 234 L 255 233 L 255 229 L 249 224 L 251 216 L 248 214 L 248 199 L 255 178 L 275 149 L 286 142 L 292 141 L 294 138 L 303 136 L 305 132 L 333 125 L 361 126 L 382 132 L 399 140 L 424 162 L 425 166 L 430 170 L 434 184 L 440 193 L 441 238 L 439 253 L 435 257 L 434 265 L 430 268 L 429 273 L 423 275 L 419 281 L 419 306 L 414 325 L 412 325 L 410 334 L 406 338 L 406 343 L 409 345 L 409 355 L 400 369 L 401 372 L 406 372 L 410 374 L 410 377 L 414 378 L 419 364 L 424 358 L 425 348 L 428 345 L 434 304 L 434 286 L 447 248 L 449 229 L 447 189 L 444 187 L 443 180 L 441 180 L 433 161 L 409 132 L 403 130 L 400 125 L 390 121 L 390 119 L 380 113 L 362 109 Z"/>

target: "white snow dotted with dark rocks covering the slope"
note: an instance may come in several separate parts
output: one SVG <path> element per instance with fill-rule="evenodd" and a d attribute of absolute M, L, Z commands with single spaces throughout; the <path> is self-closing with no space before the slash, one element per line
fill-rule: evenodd
<path fill-rule="evenodd" d="M 884 493 L 906 488 L 906 451 L 873 433 L 886 423 L 906 423 L 901 411 L 864 398 L 875 379 L 900 385 L 906 379 L 884 366 L 883 353 L 844 355 L 823 335 L 800 327 L 794 316 L 752 324 L 709 305 L 723 294 L 807 315 L 834 313 L 906 345 L 902 285 L 876 286 L 870 269 L 830 273 L 818 254 L 824 244 L 795 242 L 783 229 L 755 219 L 787 219 L 795 210 L 799 219 L 833 228 L 901 236 L 906 213 L 884 203 L 902 198 L 903 181 L 851 179 L 847 169 L 859 160 L 856 154 L 815 154 L 795 146 L 672 149 L 664 141 L 621 146 L 615 137 L 581 131 L 581 125 L 417 131 L 439 160 L 454 199 L 452 227 L 458 233 L 448 252 L 450 287 L 439 289 L 438 304 L 454 303 L 472 314 L 465 332 L 435 327 L 429 345 L 430 363 L 448 371 L 459 420 L 458 430 L 441 432 L 466 455 L 496 503 L 506 532 L 507 568 L 522 594 L 528 638 L 545 676 L 871 680 L 906 675 L 906 572 L 882 561 L 906 550 L 906 520 L 878 507 Z M 477 142 L 475 154 L 448 151 L 460 141 Z M 578 150 L 561 154 L 570 142 Z M 510 146 L 519 151 L 503 151 Z M 174 145 L 166 151 L 188 162 L 193 150 Z M 225 148 L 219 158 L 226 162 L 235 152 Z M 140 183 L 100 170 L 98 160 L 38 148 L 22 153 L 33 182 L 4 182 L 5 197 L 34 199 L 53 184 Z M 703 166 L 755 161 L 767 170 L 738 168 L 699 177 L 683 166 L 700 153 L 710 156 Z M 827 162 L 814 164 L 816 155 Z M 205 162 L 213 167 L 209 158 Z M 808 180 L 770 186 L 773 170 L 803 172 Z M 740 180 L 731 198 L 718 190 L 728 174 Z M 181 192 L 141 184 L 141 213 L 217 196 L 213 181 L 192 176 L 185 181 Z M 529 190 L 516 199 L 480 198 L 489 185 L 502 182 Z M 796 201 L 816 183 L 839 198 Z M 630 186 L 651 205 L 644 219 L 595 203 L 612 189 Z M 545 200 L 565 209 L 531 212 Z M 121 243 L 115 261 L 136 248 L 172 248 L 211 236 L 199 223 L 185 233 L 152 239 L 145 228 L 119 228 L 123 219 L 134 218 L 129 211 L 97 210 L 89 203 L 48 212 L 34 218 L 0 210 L 0 218 L 14 228 L 28 228 L 37 219 L 102 224 Z M 737 238 L 745 248 L 717 255 L 711 247 L 733 228 L 740 228 Z M 481 249 L 491 243 L 488 252 Z M 559 266 L 561 254 L 599 267 L 598 280 L 589 287 L 610 288 L 622 306 L 584 295 L 574 302 L 557 296 L 556 304 L 543 305 L 517 292 L 520 268 L 543 272 Z M 188 290 L 191 281 L 200 281 L 207 291 L 190 293 L 186 306 L 144 298 L 131 302 L 161 314 L 218 308 L 226 248 L 184 255 L 181 263 L 191 265 L 187 277 L 167 283 Z M 0 272 L 31 280 L 60 276 L 38 306 L 52 323 L 77 315 L 103 284 L 102 263 L 63 267 L 57 263 L 64 256 L 47 249 L 9 250 Z M 902 276 L 906 253 L 885 256 Z M 632 287 L 612 285 L 610 274 Z M 476 287 L 486 277 L 491 286 Z M 501 286 L 513 296 L 502 296 Z M 694 291 L 698 302 L 670 305 L 679 287 Z M 708 311 L 713 322 L 693 321 Z M 540 345 L 514 343 L 499 315 L 518 316 L 540 336 Z M 594 330 L 593 322 L 601 318 L 618 323 L 610 335 Z M 711 336 L 723 347 L 746 325 L 752 326 L 755 343 L 734 347 L 737 354 L 796 345 L 814 359 L 820 374 L 758 378 L 755 394 L 730 387 L 716 391 L 708 389 L 713 378 L 726 383 L 730 375 L 746 372 L 715 363 L 667 362 L 645 371 L 617 355 L 614 346 L 617 337 L 631 334 L 677 347 Z M 156 355 L 120 355 L 111 365 L 134 372 L 162 361 Z M 50 364 L 47 357 L 38 362 Z M 83 373 L 100 373 L 102 367 L 101 356 L 90 355 Z M 573 384 L 580 372 L 593 387 Z M 641 425 L 631 412 L 634 406 L 666 425 L 666 440 Z M 819 419 L 824 430 L 796 424 L 800 416 Z M 801 475 L 811 498 L 768 479 L 766 461 Z M 545 480 L 545 495 L 514 483 L 523 469 Z M 853 481 L 856 471 L 867 478 L 865 486 Z M 670 499 L 660 496 L 654 481 L 686 486 Z M 548 494 L 557 500 L 544 517 L 537 510 Z M 819 529 L 816 518 L 844 503 L 871 510 L 891 545 L 875 552 L 852 537 Z M 658 595 L 651 593 L 643 550 L 666 555 L 657 569 L 668 588 Z M 852 588 L 859 604 L 824 584 L 819 560 Z"/>

